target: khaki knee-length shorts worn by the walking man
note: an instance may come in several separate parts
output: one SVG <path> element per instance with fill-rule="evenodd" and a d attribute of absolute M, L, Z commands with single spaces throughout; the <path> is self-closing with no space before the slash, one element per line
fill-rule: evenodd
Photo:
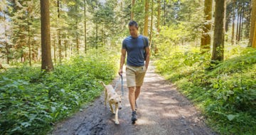
<path fill-rule="evenodd" d="M 145 66 L 126 66 L 127 87 L 142 86 L 146 74 Z"/>

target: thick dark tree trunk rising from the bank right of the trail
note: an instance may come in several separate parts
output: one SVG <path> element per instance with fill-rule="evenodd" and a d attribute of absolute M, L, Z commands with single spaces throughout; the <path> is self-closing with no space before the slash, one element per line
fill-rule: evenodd
<path fill-rule="evenodd" d="M 215 0 L 215 20 L 213 36 L 213 53 L 214 62 L 223 61 L 224 58 L 224 36 L 225 36 L 225 0 Z"/>

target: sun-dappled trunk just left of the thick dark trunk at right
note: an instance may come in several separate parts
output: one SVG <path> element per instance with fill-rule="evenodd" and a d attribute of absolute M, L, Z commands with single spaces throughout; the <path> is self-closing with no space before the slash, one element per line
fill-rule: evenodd
<path fill-rule="evenodd" d="M 201 53 L 206 53 L 210 50 L 210 30 L 211 30 L 211 19 L 212 19 L 212 0 L 205 0 L 204 3 L 204 14 L 205 22 L 203 24 L 203 33 L 201 37 Z"/>

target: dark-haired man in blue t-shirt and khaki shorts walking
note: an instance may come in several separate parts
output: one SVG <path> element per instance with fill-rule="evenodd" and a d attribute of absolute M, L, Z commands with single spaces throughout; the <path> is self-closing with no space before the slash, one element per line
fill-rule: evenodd
<path fill-rule="evenodd" d="M 138 34 L 139 27 L 136 21 L 130 21 L 128 26 L 130 36 L 125 38 L 122 42 L 119 75 L 122 75 L 127 53 L 127 87 L 129 89 L 129 103 L 132 108 L 132 121 L 134 122 L 137 120 L 137 109 L 135 108 L 136 100 L 139 97 L 144 76 L 149 66 L 149 40 Z M 146 55 L 144 55 L 144 51 Z"/>

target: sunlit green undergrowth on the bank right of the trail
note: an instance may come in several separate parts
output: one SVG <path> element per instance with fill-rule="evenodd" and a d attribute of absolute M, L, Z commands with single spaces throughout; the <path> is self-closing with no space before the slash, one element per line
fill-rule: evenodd
<path fill-rule="evenodd" d="M 156 69 L 201 107 L 215 131 L 256 134 L 256 50 L 227 48 L 218 65 L 198 48 L 166 49 L 169 55 L 159 55 Z"/>

